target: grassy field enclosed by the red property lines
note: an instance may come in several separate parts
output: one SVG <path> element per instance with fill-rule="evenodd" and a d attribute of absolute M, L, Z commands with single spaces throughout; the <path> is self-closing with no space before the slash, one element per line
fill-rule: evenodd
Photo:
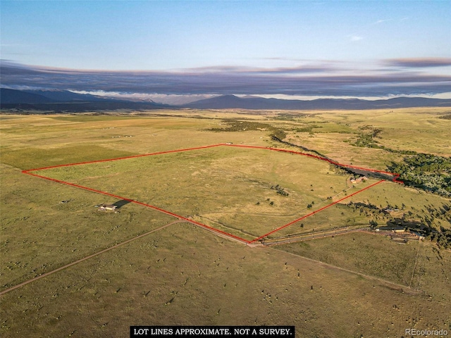
<path fill-rule="evenodd" d="M 33 173 L 195 217 L 245 239 L 259 237 L 329 204 L 329 196 L 347 187 L 347 175 L 333 173 L 324 161 L 235 146 Z M 307 208 L 309 204 L 312 207 Z"/>

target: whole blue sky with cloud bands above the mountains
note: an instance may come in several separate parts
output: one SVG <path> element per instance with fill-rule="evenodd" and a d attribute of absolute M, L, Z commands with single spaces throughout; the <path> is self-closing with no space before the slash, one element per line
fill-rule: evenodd
<path fill-rule="evenodd" d="M 448 0 L 0 0 L 1 86 L 451 98 L 450 14 Z"/>

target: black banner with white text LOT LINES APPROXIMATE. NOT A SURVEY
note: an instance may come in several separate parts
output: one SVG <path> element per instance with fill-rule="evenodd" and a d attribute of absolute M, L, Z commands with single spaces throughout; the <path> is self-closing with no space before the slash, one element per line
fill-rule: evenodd
<path fill-rule="evenodd" d="M 294 326 L 130 326 L 130 338 L 295 338 Z"/>

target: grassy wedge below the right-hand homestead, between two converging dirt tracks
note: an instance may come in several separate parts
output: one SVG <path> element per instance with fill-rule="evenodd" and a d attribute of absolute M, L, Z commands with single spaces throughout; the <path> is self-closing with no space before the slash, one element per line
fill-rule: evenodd
<path fill-rule="evenodd" d="M 451 253 L 424 242 L 400 245 L 388 237 L 355 232 L 283 244 L 277 246 L 277 249 L 393 280 L 449 301 Z"/>

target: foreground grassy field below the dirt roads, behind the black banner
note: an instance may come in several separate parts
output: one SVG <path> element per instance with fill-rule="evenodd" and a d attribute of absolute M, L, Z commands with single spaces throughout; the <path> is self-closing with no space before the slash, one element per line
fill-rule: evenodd
<path fill-rule="evenodd" d="M 3 337 L 124 337 L 137 323 L 295 325 L 298 337 L 400 337 L 412 325 L 447 327 L 451 310 L 378 280 L 182 224 L 1 301 Z"/>

